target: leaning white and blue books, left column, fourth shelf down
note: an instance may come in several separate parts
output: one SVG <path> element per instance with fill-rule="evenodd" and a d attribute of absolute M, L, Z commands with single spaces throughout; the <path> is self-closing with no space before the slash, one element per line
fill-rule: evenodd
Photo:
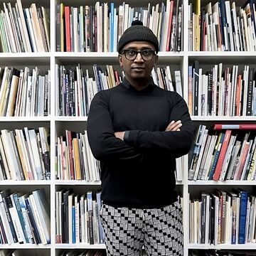
<path fill-rule="evenodd" d="M 50 243 L 50 207 L 43 189 L 0 191 L 0 244 Z"/>

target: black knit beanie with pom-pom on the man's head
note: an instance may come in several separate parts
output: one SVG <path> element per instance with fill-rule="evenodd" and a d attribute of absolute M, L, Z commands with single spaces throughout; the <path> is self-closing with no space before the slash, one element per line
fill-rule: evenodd
<path fill-rule="evenodd" d="M 122 52 L 122 49 L 127 43 L 134 41 L 149 42 L 156 48 L 156 53 L 159 52 L 159 41 L 153 31 L 147 26 L 143 26 L 142 21 L 139 20 L 132 21 L 132 26 L 127 28 L 122 34 L 117 46 L 118 53 Z"/>

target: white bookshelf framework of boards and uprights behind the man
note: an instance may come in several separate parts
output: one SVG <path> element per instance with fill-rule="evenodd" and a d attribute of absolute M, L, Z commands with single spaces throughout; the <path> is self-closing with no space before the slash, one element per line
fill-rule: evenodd
<path fill-rule="evenodd" d="M 0 5 L 4 1 L 0 1 Z M 11 4 L 16 1 L 11 0 Z M 29 7 L 33 1 L 23 0 L 23 7 Z M 117 53 L 74 53 L 74 52 L 57 52 L 56 49 L 56 4 L 60 4 L 60 1 L 35 1 L 36 4 L 46 7 L 48 17 L 50 18 L 50 51 L 46 53 L 0 53 L 0 66 L 14 66 L 15 68 L 24 68 L 25 65 L 33 68 L 38 66 L 42 70 L 51 71 L 50 77 L 50 114 L 47 117 L 0 117 L 0 129 L 22 129 L 23 127 L 41 127 L 45 126 L 50 128 L 50 181 L 1 181 L 0 190 L 11 188 L 11 191 L 28 191 L 31 192 L 36 188 L 44 188 L 48 201 L 50 202 L 50 245 L 31 245 L 31 244 L 11 244 L 1 245 L 1 249 L 18 249 L 23 252 L 23 255 L 34 255 L 34 252 L 38 255 L 50 255 L 57 256 L 60 252 L 69 250 L 82 250 L 82 249 L 104 249 L 105 245 L 89 245 L 89 244 L 56 244 L 55 243 L 55 191 L 63 188 L 74 188 L 74 191 L 78 193 L 88 191 L 90 189 L 100 188 L 100 182 L 88 182 L 88 181 L 60 181 L 55 179 L 55 140 L 60 134 L 65 134 L 65 129 L 74 130 L 76 132 L 83 132 L 86 129 L 87 117 L 61 117 L 55 112 L 55 64 L 66 65 L 71 67 L 80 63 L 82 68 L 88 68 L 92 71 L 92 64 L 98 63 L 104 67 L 107 64 L 114 65 L 118 69 Z M 102 1 L 108 2 L 110 1 Z M 113 1 L 115 6 L 119 5 L 119 1 Z M 202 1 L 201 6 L 204 6 L 209 1 Z M 63 1 L 65 5 L 80 6 L 84 4 L 84 1 Z M 129 0 L 127 3 L 132 6 L 138 6 L 138 1 Z M 151 5 L 161 3 L 161 1 L 151 1 Z M 243 1 L 237 1 L 237 5 L 242 5 Z M 95 4 L 95 1 L 87 1 L 87 4 Z M 183 13 L 187 14 L 188 4 L 190 1 L 183 0 Z M 145 6 L 147 2 L 145 2 Z M 218 64 L 220 62 L 223 65 L 232 65 L 233 63 L 240 65 L 255 65 L 256 52 L 202 52 L 202 51 L 189 51 L 188 50 L 188 20 L 187 16 L 183 17 L 183 51 L 181 52 L 159 52 L 159 66 L 170 65 L 171 70 L 181 70 L 182 85 L 183 85 L 183 97 L 188 102 L 188 65 L 191 65 L 194 60 L 199 60 L 200 65 L 204 68 Z M 225 123 L 239 123 L 239 122 L 255 122 L 255 117 L 215 117 L 215 116 L 191 116 L 196 127 L 199 124 L 204 123 L 209 127 L 215 122 Z M 248 191 L 252 190 L 255 186 L 255 181 L 188 181 L 188 156 L 184 163 L 183 181 L 177 182 L 178 193 L 183 196 L 183 213 L 188 213 L 189 196 L 196 196 L 200 191 L 210 191 L 213 188 L 232 188 L 242 187 Z M 256 244 L 245 245 L 200 245 L 190 244 L 189 241 L 189 218 L 188 214 L 183 214 L 183 230 L 184 230 L 184 255 L 188 255 L 192 249 L 213 249 L 213 250 L 256 250 Z"/>

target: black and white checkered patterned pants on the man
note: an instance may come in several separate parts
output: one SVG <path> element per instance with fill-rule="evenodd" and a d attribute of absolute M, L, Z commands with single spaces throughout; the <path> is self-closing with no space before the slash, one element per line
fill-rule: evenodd
<path fill-rule="evenodd" d="M 159 209 L 114 208 L 103 204 L 100 219 L 107 255 L 183 255 L 180 203 Z"/>

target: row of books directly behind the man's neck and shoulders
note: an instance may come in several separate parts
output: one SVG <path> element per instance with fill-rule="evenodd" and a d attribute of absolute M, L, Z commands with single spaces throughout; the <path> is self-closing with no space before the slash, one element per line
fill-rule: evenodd
<path fill-rule="evenodd" d="M 60 116 L 86 116 L 89 111 L 90 102 L 94 95 L 100 90 L 106 90 L 117 86 L 124 79 L 114 70 L 112 65 L 106 65 L 102 71 L 99 65 L 92 65 L 93 77 L 89 70 L 82 70 L 80 64 L 76 67 L 66 69 L 63 65 L 55 65 L 55 112 Z M 174 73 L 168 66 L 156 68 L 151 72 L 156 85 L 165 90 L 174 90 L 183 96 L 181 71 Z"/>

